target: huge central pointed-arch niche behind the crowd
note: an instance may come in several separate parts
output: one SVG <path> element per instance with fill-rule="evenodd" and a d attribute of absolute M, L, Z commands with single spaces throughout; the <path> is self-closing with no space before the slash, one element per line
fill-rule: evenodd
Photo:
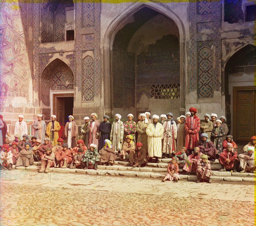
<path fill-rule="evenodd" d="M 160 4 L 141 4 L 116 17 L 103 45 L 106 112 L 183 112 L 184 37 L 180 18 Z"/>

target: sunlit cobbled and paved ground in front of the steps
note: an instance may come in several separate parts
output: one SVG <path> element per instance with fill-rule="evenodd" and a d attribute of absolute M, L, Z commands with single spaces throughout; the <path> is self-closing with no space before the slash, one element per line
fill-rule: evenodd
<path fill-rule="evenodd" d="M 254 225 L 254 186 L 21 172 L 1 178 L 0 225 Z"/>

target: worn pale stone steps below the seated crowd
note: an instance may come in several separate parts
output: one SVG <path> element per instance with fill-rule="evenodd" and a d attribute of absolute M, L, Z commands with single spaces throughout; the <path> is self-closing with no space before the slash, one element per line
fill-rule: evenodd
<path fill-rule="evenodd" d="M 155 172 L 154 168 L 152 169 L 152 171 L 143 171 L 143 170 L 147 169 L 148 167 L 144 167 L 144 168 L 126 167 L 126 169 L 122 169 L 122 167 L 124 167 L 124 166 L 99 166 L 98 170 L 50 168 L 49 172 L 51 172 L 51 173 L 56 173 L 56 172 L 57 173 L 79 173 L 79 174 L 87 174 L 87 175 L 99 175 L 102 177 L 112 175 L 112 176 L 121 176 L 121 177 L 134 177 L 134 179 L 146 178 L 146 177 L 161 179 L 166 175 L 166 172 Z M 17 172 L 17 175 L 19 175 L 19 173 L 21 173 L 21 172 L 23 174 L 24 174 L 24 172 L 37 172 L 38 169 L 40 169 L 40 166 L 35 166 L 35 165 L 28 166 L 28 167 L 17 166 L 16 172 Z M 8 176 L 9 173 L 13 175 L 13 172 L 10 172 L 8 170 L 1 171 L 1 177 L 3 177 L 3 180 L 5 178 L 6 179 L 9 178 L 9 176 Z M 227 173 L 227 172 L 225 172 L 225 173 Z M 193 175 L 193 174 L 191 174 L 191 175 L 180 174 L 180 180 L 195 181 L 195 180 L 197 180 L 197 176 Z M 254 174 L 249 174 L 249 173 L 240 174 L 240 175 L 232 175 L 232 173 L 230 173 L 230 174 L 224 175 L 223 172 L 213 172 L 212 180 L 213 181 L 254 182 L 255 178 L 254 178 Z"/>

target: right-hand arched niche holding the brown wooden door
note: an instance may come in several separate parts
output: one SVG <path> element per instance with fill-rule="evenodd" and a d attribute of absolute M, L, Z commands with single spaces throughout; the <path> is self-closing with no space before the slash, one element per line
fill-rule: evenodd
<path fill-rule="evenodd" d="M 234 140 L 247 142 L 256 133 L 256 46 L 237 50 L 225 65 L 227 125 Z"/>

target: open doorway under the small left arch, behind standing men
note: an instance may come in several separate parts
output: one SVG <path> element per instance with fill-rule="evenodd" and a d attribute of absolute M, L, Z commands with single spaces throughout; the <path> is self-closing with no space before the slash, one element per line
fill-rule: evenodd
<path fill-rule="evenodd" d="M 59 137 L 64 137 L 65 124 L 68 121 L 68 116 L 73 114 L 74 97 L 73 94 L 54 94 L 53 95 L 53 114 L 56 115 L 57 121 L 61 125 Z"/>

